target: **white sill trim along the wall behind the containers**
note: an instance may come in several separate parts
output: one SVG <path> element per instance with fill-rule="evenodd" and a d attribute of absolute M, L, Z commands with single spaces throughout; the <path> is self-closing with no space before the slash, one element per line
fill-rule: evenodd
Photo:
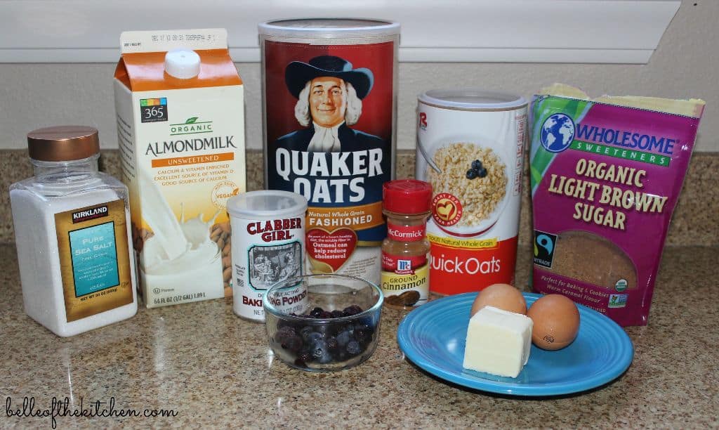
<path fill-rule="evenodd" d="M 400 61 L 647 63 L 679 0 L 0 0 L 0 63 L 114 63 L 120 32 L 225 27 L 257 62 L 257 23 L 392 19 Z"/>

